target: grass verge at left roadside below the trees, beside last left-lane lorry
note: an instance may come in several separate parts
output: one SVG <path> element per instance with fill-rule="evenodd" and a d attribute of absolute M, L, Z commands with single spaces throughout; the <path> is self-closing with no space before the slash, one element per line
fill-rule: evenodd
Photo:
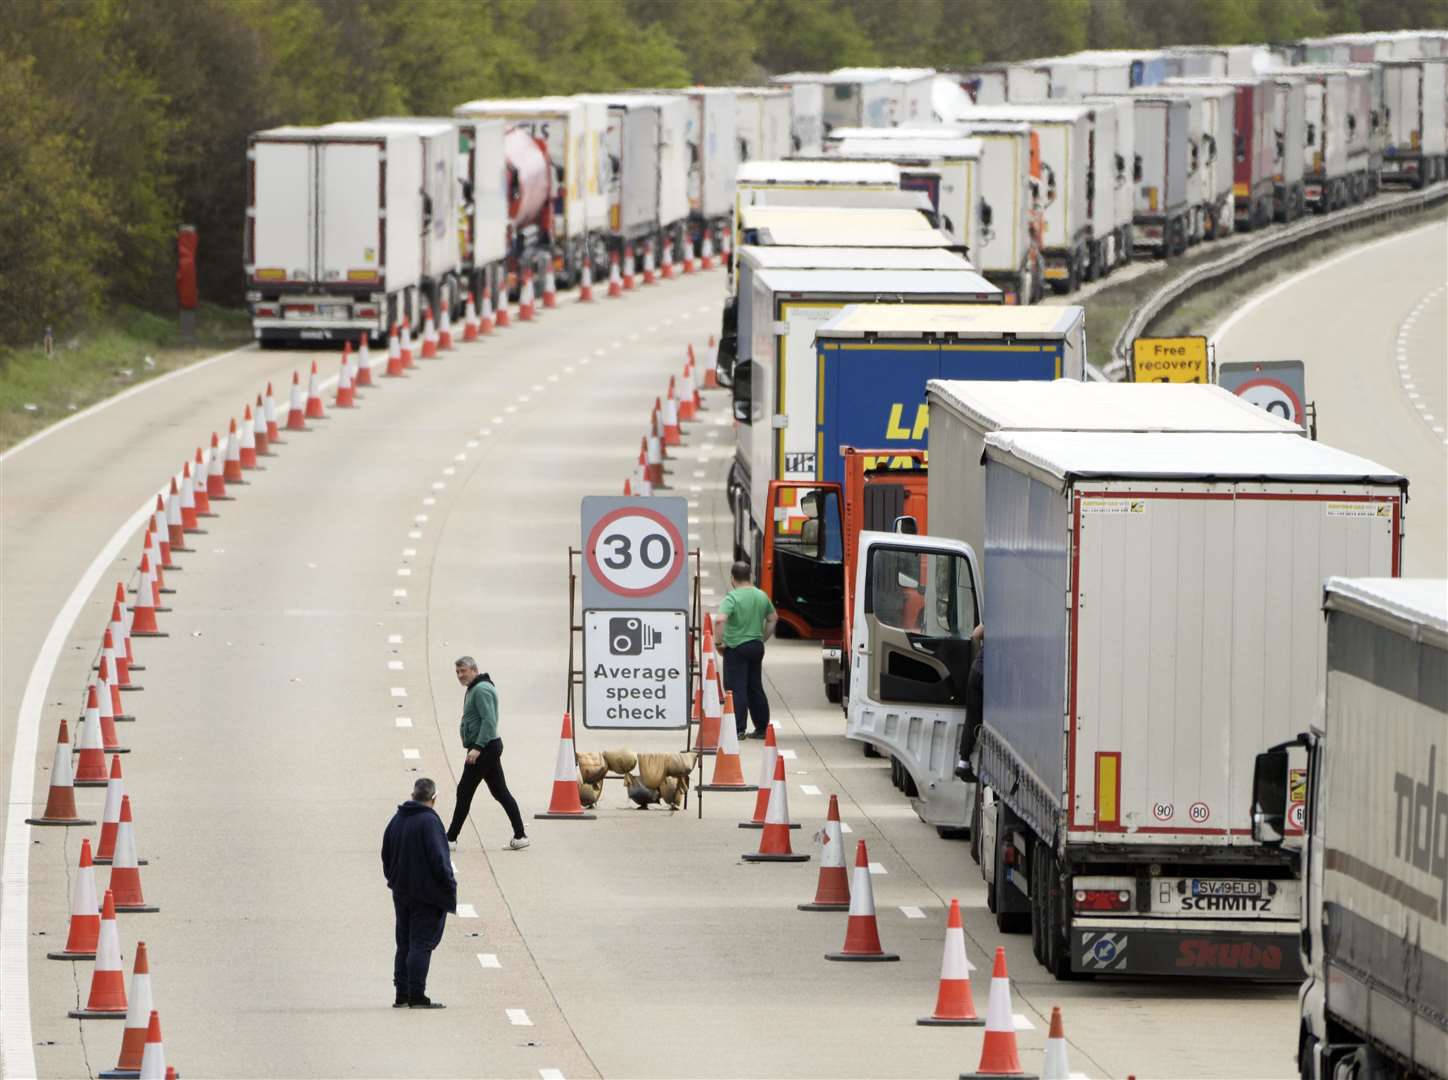
<path fill-rule="evenodd" d="M 51 356 L 42 343 L 0 346 L 0 450 L 113 394 L 249 340 L 245 310 L 206 304 L 190 345 L 181 342 L 175 318 L 120 308 L 56 339 Z"/>

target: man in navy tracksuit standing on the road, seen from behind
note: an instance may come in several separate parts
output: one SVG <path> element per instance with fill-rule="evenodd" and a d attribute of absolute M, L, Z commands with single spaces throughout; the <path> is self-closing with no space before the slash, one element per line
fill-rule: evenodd
<path fill-rule="evenodd" d="M 394 1009 L 445 1008 L 427 997 L 427 967 L 443 940 L 447 912 L 458 911 L 458 879 L 443 821 L 433 809 L 436 801 L 437 785 L 420 779 L 413 785 L 413 798 L 397 808 L 382 834 L 382 873 L 397 914 Z"/>

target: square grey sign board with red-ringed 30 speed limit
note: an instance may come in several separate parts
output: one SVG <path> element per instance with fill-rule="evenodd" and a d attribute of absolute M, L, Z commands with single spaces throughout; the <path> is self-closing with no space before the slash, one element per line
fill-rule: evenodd
<path fill-rule="evenodd" d="M 584 608 L 686 611 L 688 512 L 682 498 L 585 498 Z"/>

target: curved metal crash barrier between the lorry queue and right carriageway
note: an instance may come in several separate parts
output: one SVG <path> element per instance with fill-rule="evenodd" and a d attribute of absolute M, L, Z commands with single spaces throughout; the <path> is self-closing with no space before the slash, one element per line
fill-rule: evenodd
<path fill-rule="evenodd" d="M 1429 210 L 1445 200 L 1448 200 L 1448 184 L 1435 184 L 1431 188 L 1406 191 L 1399 195 L 1378 195 L 1351 210 L 1338 210 L 1322 217 L 1309 216 L 1293 224 L 1268 230 L 1261 237 L 1241 243 L 1218 259 L 1193 266 L 1153 292 L 1131 313 L 1131 317 L 1121 327 L 1121 333 L 1116 334 L 1112 345 L 1112 359 L 1102 369 L 1102 375 L 1118 382 L 1128 378 L 1131 374 L 1131 343 L 1145 334 L 1153 321 L 1196 290 L 1215 285 L 1229 274 L 1245 269 L 1260 259 L 1276 258 L 1308 240 Z"/>

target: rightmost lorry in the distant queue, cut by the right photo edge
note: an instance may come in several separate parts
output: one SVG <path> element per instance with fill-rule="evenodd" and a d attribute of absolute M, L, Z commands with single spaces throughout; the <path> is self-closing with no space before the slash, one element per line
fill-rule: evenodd
<path fill-rule="evenodd" d="M 1448 178 L 1448 59 L 1383 61 L 1383 182 Z"/>

